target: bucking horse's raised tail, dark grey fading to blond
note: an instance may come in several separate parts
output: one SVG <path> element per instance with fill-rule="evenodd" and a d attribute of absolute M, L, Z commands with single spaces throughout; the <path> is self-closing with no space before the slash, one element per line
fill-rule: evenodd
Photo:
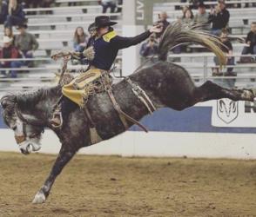
<path fill-rule="evenodd" d="M 219 57 L 220 65 L 226 64 L 226 56 L 219 48 L 219 38 L 198 30 L 201 24 L 188 25 L 187 23 L 173 22 L 165 30 L 158 47 L 158 59 L 166 61 L 170 49 L 184 43 L 199 43 L 210 49 Z"/>

